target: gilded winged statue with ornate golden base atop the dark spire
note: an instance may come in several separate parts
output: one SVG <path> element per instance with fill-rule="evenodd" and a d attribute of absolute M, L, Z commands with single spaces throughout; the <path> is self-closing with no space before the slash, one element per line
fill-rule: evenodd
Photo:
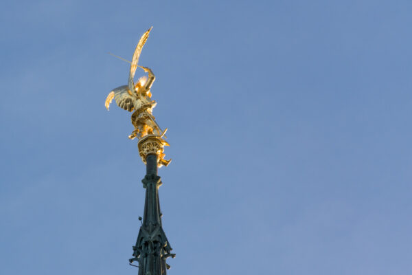
<path fill-rule="evenodd" d="M 157 155 L 158 166 L 161 167 L 162 165 L 168 166 L 171 161 L 171 159 L 163 159 L 163 147 L 169 146 L 168 142 L 163 139 L 168 129 L 162 131 L 155 120 L 155 116 L 152 115 L 152 110 L 157 104 L 155 100 L 151 99 L 152 94 L 150 93 L 150 88 L 153 82 L 155 82 L 155 75 L 148 67 L 137 65 L 141 49 L 148 40 L 150 30 L 152 30 L 152 28 L 141 36 L 135 53 L 133 54 L 132 62 L 127 61 L 130 63 L 128 85 L 113 89 L 113 91 L 108 94 L 104 105 L 108 110 L 114 98 L 117 106 L 120 108 L 130 112 L 134 111 L 131 119 L 135 130 L 129 135 L 129 138 L 130 140 L 133 140 L 135 137 L 139 138 L 139 153 L 144 163 L 146 163 L 146 156 L 154 153 Z M 133 79 L 135 78 L 137 67 L 144 69 L 144 72 L 148 73 L 148 77 L 142 76 L 135 84 Z"/>

